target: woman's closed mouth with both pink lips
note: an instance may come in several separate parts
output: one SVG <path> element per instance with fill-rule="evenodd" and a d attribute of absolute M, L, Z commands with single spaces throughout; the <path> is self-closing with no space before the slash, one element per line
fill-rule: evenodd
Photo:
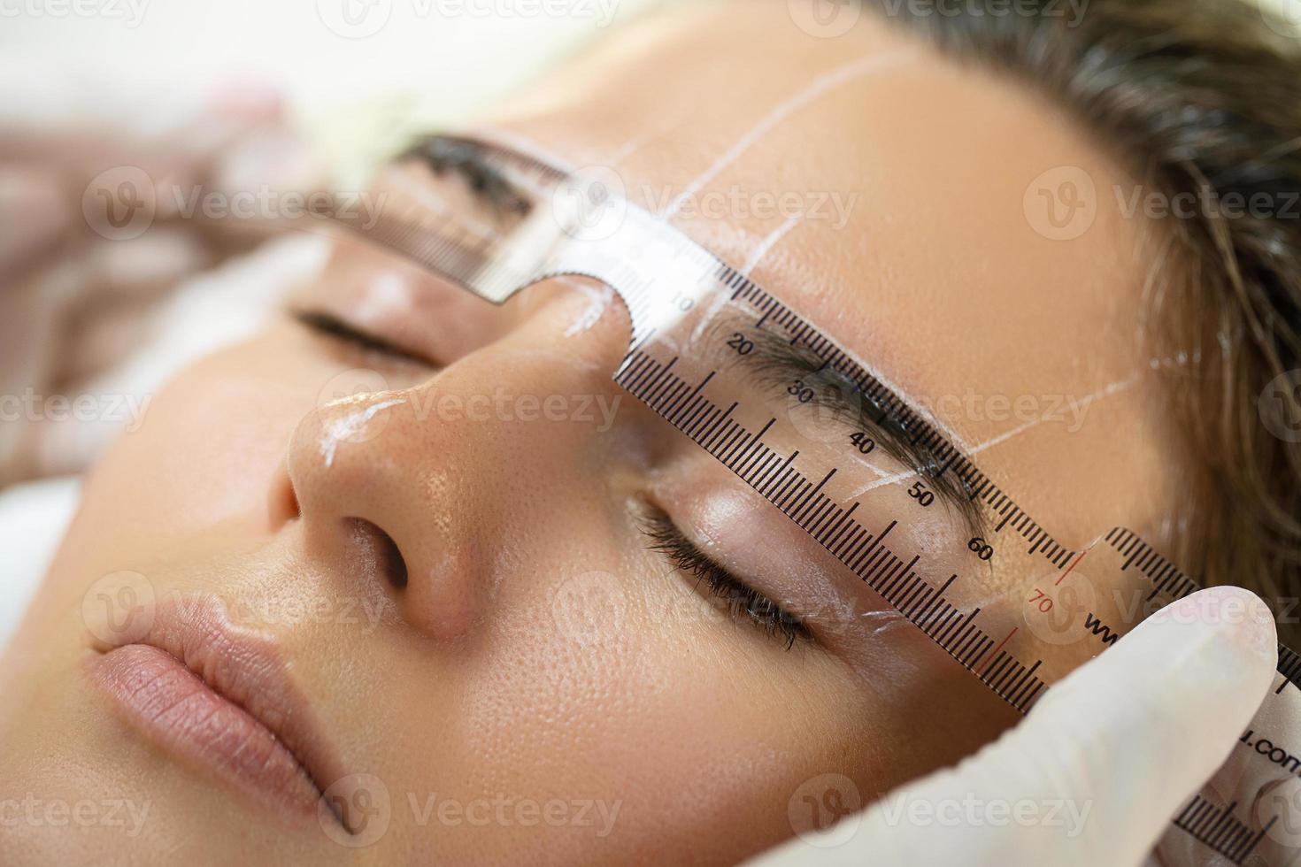
<path fill-rule="evenodd" d="M 98 650 L 91 681 L 155 746 L 262 803 L 298 816 L 325 803 L 338 819 L 321 793 L 341 772 L 311 707 L 275 643 L 215 599 L 160 604 L 146 634 Z"/>

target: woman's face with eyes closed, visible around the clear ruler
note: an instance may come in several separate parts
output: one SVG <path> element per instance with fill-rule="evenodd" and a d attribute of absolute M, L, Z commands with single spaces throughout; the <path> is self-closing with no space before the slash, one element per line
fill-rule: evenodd
<path fill-rule="evenodd" d="M 1167 513 L 1141 227 L 1097 207 L 1073 231 L 1041 198 L 1124 175 L 1028 91 L 866 18 L 826 39 L 719 4 L 485 127 L 650 209 L 684 196 L 675 225 L 1064 542 Z M 1012 720 L 611 383 L 617 304 L 546 283 L 494 308 L 341 246 L 293 309 L 316 326 L 187 370 L 87 482 L 0 675 L 7 863 L 734 861 Z M 675 533 L 743 586 L 675 568 Z M 760 597 L 837 614 L 756 623 Z"/>

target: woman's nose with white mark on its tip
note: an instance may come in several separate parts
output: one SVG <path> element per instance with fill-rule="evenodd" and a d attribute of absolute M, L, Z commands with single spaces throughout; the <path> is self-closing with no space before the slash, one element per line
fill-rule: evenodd
<path fill-rule="evenodd" d="M 626 321 L 611 307 L 593 325 L 591 304 L 578 292 L 530 304 L 425 382 L 303 417 L 286 465 L 308 556 L 342 581 L 382 586 L 431 637 L 483 621 L 501 580 L 493 564 L 520 556 L 531 523 L 591 472 L 592 441 L 613 422 L 593 407 L 619 406 L 610 374 Z"/>

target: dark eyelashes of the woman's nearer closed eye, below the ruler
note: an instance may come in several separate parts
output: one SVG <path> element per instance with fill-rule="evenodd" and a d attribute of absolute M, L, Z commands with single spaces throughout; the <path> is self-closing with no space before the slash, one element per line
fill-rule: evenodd
<path fill-rule="evenodd" d="M 652 539 L 650 550 L 667 558 L 678 571 L 695 577 L 697 586 L 708 588 L 723 602 L 727 615 L 734 621 L 753 624 L 785 643 L 787 650 L 794 647 L 796 641 L 812 641 L 808 627 L 709 559 L 662 511 L 650 511 L 643 519 L 641 529 Z"/>

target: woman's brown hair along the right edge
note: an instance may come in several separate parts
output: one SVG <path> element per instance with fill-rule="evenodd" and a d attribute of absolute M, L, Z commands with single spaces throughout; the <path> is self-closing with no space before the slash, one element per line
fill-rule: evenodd
<path fill-rule="evenodd" d="M 1205 584 L 1259 593 L 1297 646 L 1301 31 L 1244 0 L 1092 0 L 1075 17 L 1059 0 L 866 1 L 1043 90 L 1167 201 L 1226 204 L 1160 221 L 1149 281 L 1201 468 L 1168 552 Z"/>

